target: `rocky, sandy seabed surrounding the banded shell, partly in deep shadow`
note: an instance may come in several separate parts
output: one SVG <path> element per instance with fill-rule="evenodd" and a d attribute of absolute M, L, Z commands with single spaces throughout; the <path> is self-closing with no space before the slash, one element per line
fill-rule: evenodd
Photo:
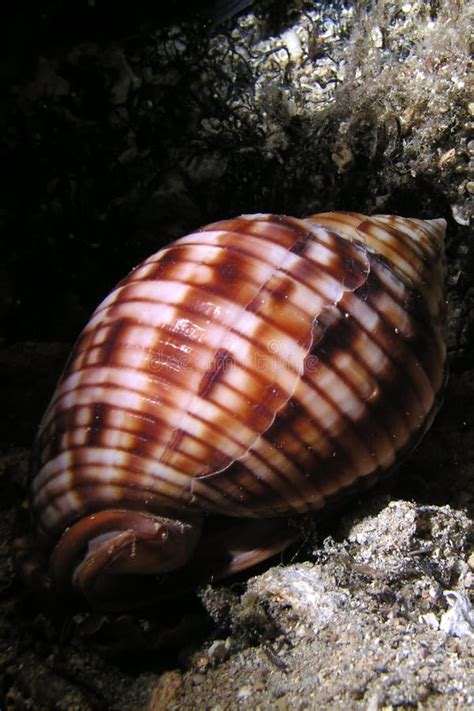
<path fill-rule="evenodd" d="M 0 707 L 474 704 L 474 102 L 462 2 L 60 2 L 0 60 Z M 51 609 L 14 573 L 30 445 L 96 303 L 239 213 L 442 216 L 450 379 L 399 476 L 253 577 L 168 610 Z M 257 571 L 256 571 L 257 573 Z M 167 624 L 163 624 L 166 619 Z"/>

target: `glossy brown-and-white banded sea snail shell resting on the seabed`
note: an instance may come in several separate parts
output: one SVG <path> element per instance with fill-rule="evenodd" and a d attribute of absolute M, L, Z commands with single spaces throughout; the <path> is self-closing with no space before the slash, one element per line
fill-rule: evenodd
<path fill-rule="evenodd" d="M 274 517 L 391 469 L 445 378 L 445 228 L 244 215 L 140 264 L 82 332 L 39 430 L 44 578 L 101 604 L 194 559 L 238 570 L 294 539 Z"/>

